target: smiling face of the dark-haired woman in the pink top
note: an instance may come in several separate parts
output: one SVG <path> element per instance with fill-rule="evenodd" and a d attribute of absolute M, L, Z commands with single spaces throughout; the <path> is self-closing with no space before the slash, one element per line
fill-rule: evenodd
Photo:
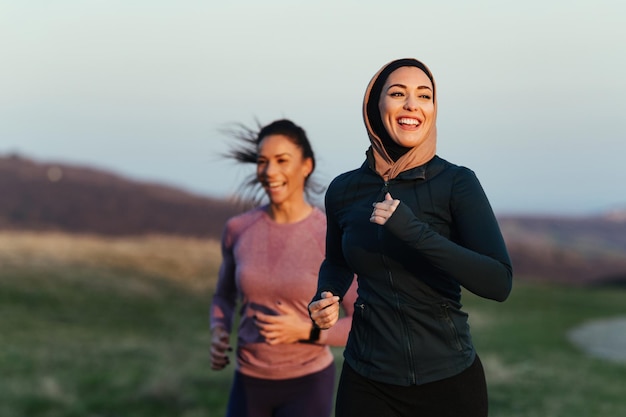
<path fill-rule="evenodd" d="M 285 135 L 268 135 L 259 142 L 257 179 L 271 204 L 304 199 L 304 184 L 313 171 L 311 158 Z"/>

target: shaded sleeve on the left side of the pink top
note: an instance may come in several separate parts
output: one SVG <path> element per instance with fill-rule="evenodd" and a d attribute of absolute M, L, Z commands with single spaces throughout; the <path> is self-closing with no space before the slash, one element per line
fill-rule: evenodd
<path fill-rule="evenodd" d="M 222 234 L 222 264 L 220 265 L 217 286 L 211 302 L 211 330 L 219 326 L 226 329 L 229 333 L 231 332 L 236 302 L 237 285 L 235 282 L 233 237 L 227 223 Z"/>

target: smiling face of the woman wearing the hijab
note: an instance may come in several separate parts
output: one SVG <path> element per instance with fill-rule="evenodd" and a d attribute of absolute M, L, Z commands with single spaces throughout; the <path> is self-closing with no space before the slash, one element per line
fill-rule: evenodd
<path fill-rule="evenodd" d="M 413 148 L 435 122 L 433 84 L 419 68 L 400 67 L 383 86 L 378 109 L 383 126 L 400 146 Z"/>

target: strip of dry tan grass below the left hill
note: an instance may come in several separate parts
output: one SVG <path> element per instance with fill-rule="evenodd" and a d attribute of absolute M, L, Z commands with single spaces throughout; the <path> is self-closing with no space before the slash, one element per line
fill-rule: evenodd
<path fill-rule="evenodd" d="M 0 266 L 87 266 L 162 276 L 194 289 L 215 286 L 215 240 L 164 235 L 102 237 L 59 232 L 0 232 Z"/>

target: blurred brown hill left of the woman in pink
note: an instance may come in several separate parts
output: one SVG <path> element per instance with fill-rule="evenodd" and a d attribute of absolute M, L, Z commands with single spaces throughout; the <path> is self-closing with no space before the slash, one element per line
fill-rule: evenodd
<path fill-rule="evenodd" d="M 0 229 L 219 238 L 233 202 L 88 167 L 0 156 Z"/>

